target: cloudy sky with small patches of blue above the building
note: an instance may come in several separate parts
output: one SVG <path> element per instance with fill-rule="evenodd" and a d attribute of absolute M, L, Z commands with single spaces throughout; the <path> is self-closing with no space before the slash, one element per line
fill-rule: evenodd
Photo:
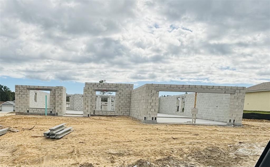
<path fill-rule="evenodd" d="M 11 87 L 100 79 L 242 86 L 270 80 L 270 1 L 0 5 L 0 77 Z"/>

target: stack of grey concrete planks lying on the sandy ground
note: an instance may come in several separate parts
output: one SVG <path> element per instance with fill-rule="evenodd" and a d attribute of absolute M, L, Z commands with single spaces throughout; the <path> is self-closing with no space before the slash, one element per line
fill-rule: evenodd
<path fill-rule="evenodd" d="M 62 138 L 63 136 L 69 134 L 72 132 L 73 127 L 66 127 L 66 123 L 62 123 L 60 125 L 54 126 L 52 128 L 49 128 L 48 131 L 44 132 L 43 135 L 44 137 L 48 138 Z"/>

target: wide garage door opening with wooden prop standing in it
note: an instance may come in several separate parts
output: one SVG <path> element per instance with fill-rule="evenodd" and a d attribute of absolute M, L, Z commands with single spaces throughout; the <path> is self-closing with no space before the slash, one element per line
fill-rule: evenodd
<path fill-rule="evenodd" d="M 194 116 L 211 124 L 227 122 L 229 108 L 228 93 L 159 92 L 157 117 L 158 122 L 189 123 Z"/>

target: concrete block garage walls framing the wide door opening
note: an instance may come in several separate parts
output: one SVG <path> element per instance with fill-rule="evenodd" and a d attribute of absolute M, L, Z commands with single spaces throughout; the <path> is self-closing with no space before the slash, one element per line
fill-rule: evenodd
<path fill-rule="evenodd" d="M 236 126 L 242 123 L 245 87 L 238 86 L 145 84 L 132 91 L 130 116 L 142 121 L 144 121 L 144 117 L 147 119 L 157 117 L 160 91 L 230 94 L 229 111 L 225 120 L 227 124 Z M 144 105 L 139 105 L 138 102 L 144 103 Z M 151 120 L 151 122 L 154 121 Z"/>

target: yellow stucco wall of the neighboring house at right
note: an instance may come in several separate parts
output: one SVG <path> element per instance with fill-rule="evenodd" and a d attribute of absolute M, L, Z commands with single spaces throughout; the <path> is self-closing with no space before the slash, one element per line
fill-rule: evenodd
<path fill-rule="evenodd" d="M 246 93 L 244 110 L 270 111 L 270 91 Z"/>

